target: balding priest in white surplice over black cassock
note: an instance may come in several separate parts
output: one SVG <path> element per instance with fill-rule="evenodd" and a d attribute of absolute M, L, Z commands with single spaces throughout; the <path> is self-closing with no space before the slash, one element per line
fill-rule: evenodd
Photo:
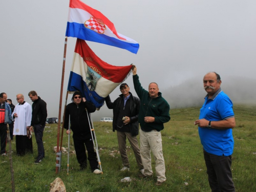
<path fill-rule="evenodd" d="M 32 107 L 24 101 L 23 94 L 16 95 L 16 104 L 12 117 L 14 119 L 13 135 L 16 138 L 16 152 L 18 156 L 23 156 L 27 152 L 33 153 L 32 137 L 30 134 L 30 124 L 32 118 Z"/>

